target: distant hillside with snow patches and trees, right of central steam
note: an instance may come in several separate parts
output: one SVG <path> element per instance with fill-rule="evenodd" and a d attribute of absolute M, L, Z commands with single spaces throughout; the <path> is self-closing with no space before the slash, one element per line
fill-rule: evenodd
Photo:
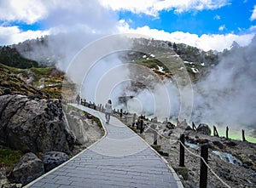
<path fill-rule="evenodd" d="M 131 62 L 148 66 L 155 73 L 164 77 L 178 75 L 185 68 L 192 82 L 196 82 L 207 74 L 213 66 L 218 64 L 220 53 L 216 51 L 205 52 L 183 43 L 168 41 L 138 39 L 134 48 L 149 48 L 149 54 L 134 52 L 129 54 Z M 164 57 L 163 57 L 164 55 Z M 165 62 L 163 65 L 162 62 Z"/>

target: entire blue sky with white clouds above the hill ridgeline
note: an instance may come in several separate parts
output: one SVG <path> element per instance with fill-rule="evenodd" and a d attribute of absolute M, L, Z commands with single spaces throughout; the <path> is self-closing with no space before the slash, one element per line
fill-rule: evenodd
<path fill-rule="evenodd" d="M 139 34 L 204 50 L 250 43 L 254 0 L 1 0 L 0 45 L 61 32 Z M 95 38 L 95 37 L 92 37 Z"/>

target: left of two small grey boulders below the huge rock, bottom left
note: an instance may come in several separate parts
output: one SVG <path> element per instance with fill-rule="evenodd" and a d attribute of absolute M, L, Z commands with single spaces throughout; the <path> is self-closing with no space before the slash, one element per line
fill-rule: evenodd
<path fill-rule="evenodd" d="M 44 174 L 44 163 L 32 152 L 26 153 L 15 164 L 12 177 L 16 183 L 26 185 Z"/>

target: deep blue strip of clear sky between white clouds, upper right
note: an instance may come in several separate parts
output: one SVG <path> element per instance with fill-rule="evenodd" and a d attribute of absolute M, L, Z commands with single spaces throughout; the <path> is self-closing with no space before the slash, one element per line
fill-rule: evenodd
<path fill-rule="evenodd" d="M 255 4 L 253 1 L 243 3 L 236 0 L 219 9 L 191 10 L 183 13 L 175 13 L 173 9 L 162 10 L 157 17 L 148 14 L 132 14 L 131 11 L 119 11 L 119 18 L 129 22 L 134 29 L 149 26 L 157 30 L 184 31 L 198 35 L 243 34 L 248 32 L 248 28 L 256 25 L 256 20 L 250 20 Z"/>

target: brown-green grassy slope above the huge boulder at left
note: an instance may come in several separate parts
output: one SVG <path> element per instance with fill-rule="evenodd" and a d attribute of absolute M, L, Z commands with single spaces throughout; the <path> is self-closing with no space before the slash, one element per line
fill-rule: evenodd
<path fill-rule="evenodd" d="M 0 93 L 38 95 L 45 99 L 61 99 L 64 72 L 55 67 L 19 69 L 0 64 Z M 73 89 L 75 85 L 70 83 Z"/>

